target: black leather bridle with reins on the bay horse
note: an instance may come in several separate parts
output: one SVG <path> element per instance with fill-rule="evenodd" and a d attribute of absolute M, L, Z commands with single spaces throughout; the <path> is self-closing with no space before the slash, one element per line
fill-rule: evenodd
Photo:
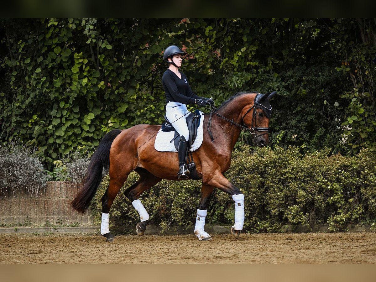
<path fill-rule="evenodd" d="M 243 125 L 241 125 L 241 124 L 238 124 L 238 123 L 236 123 L 235 121 L 233 121 L 233 120 L 229 120 L 228 118 L 224 117 L 223 115 L 218 114 L 217 112 L 214 111 L 214 110 L 215 110 L 215 107 L 214 107 L 214 106 L 213 106 L 212 109 L 208 108 L 209 111 L 211 111 L 211 112 L 210 112 L 210 116 L 209 116 L 209 120 L 208 120 L 208 132 L 209 132 L 209 135 L 210 135 L 211 141 L 214 142 L 214 138 L 213 138 L 213 135 L 212 135 L 212 133 L 211 133 L 211 120 L 212 120 L 212 115 L 213 115 L 213 113 L 216 114 L 216 115 L 218 115 L 218 116 L 221 117 L 222 119 L 228 121 L 229 123 L 231 123 L 231 124 L 233 124 L 233 125 L 235 125 L 235 126 L 241 127 L 241 128 L 244 129 L 244 130 L 249 131 L 249 132 L 251 133 L 251 135 L 252 135 L 252 139 L 257 138 L 257 137 L 262 136 L 262 135 L 265 135 L 265 134 L 268 134 L 268 133 L 269 133 L 269 127 L 257 127 L 257 124 L 256 124 L 256 115 L 257 115 L 257 111 L 256 111 L 256 109 L 257 109 L 257 108 L 261 108 L 261 109 L 262 109 L 262 108 L 265 108 L 265 109 L 267 109 L 268 111 L 271 111 L 271 106 L 270 106 L 270 109 L 268 109 L 266 106 L 264 106 L 264 105 L 262 105 L 262 104 L 256 102 L 256 98 L 257 98 L 257 96 L 258 96 L 259 94 L 260 94 L 260 93 L 258 93 L 258 94 L 256 95 L 256 97 L 255 97 L 255 102 L 253 103 L 253 106 L 250 107 L 250 108 L 248 109 L 248 111 L 247 111 L 247 112 L 243 115 L 243 117 L 241 118 L 241 120 L 243 121 L 244 118 L 246 117 L 246 115 L 247 115 L 250 111 L 252 111 L 252 109 L 253 109 L 253 113 L 252 113 L 252 122 L 251 122 L 251 127 L 250 127 L 250 128 L 249 128 L 249 127 L 246 127 L 246 126 L 243 126 Z M 256 107 L 256 106 L 257 106 L 257 107 Z M 264 111 L 264 113 L 265 113 L 265 110 L 263 110 L 263 111 Z M 244 123 L 244 122 L 243 122 L 243 123 Z M 253 125 L 255 125 L 255 126 L 253 126 Z M 264 133 L 261 133 L 261 134 L 256 135 L 256 131 L 261 131 L 261 132 L 264 132 Z"/>

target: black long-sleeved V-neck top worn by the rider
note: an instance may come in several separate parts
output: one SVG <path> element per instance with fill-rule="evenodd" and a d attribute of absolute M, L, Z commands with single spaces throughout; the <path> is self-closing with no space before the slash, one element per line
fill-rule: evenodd
<path fill-rule="evenodd" d="M 166 103 L 179 102 L 182 104 L 194 104 L 195 99 L 204 99 L 193 93 L 185 74 L 180 71 L 181 79 L 170 69 L 162 76 L 162 85 L 166 92 Z"/>

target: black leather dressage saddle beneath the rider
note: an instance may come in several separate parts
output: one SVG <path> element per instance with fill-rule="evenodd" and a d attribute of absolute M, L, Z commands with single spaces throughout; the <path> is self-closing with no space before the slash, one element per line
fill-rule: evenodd
<path fill-rule="evenodd" d="M 195 112 L 188 115 L 188 117 L 185 118 L 188 131 L 189 131 L 189 149 L 191 148 L 192 144 L 196 140 L 197 136 L 197 129 L 200 126 L 200 111 L 196 110 Z M 165 115 L 165 123 L 162 124 L 162 131 L 168 132 L 168 131 L 175 131 L 174 138 L 171 139 L 170 143 L 174 141 L 174 146 L 177 150 L 177 147 L 179 146 L 179 140 L 180 140 L 180 134 L 174 129 L 170 121 L 168 121 L 166 115 Z"/>

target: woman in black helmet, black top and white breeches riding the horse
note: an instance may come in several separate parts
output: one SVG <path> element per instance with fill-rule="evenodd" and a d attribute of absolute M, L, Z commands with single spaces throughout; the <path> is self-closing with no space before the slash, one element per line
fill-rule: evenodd
<path fill-rule="evenodd" d="M 189 170 L 186 166 L 189 131 L 185 117 L 191 112 L 188 111 L 186 104 L 214 105 L 212 99 L 194 94 L 188 84 L 187 77 L 178 70 L 182 66 L 181 56 L 183 54 L 185 52 L 175 45 L 166 48 L 163 53 L 163 59 L 169 64 L 169 67 L 162 76 L 162 84 L 166 93 L 166 116 L 180 135 L 177 149 L 179 158 L 178 179 L 189 178 Z"/>

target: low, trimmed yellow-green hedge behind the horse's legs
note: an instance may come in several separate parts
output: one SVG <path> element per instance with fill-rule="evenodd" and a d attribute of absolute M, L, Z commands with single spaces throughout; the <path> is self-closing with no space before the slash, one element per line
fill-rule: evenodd
<path fill-rule="evenodd" d="M 329 224 L 330 231 L 348 224 L 376 227 L 376 156 L 369 150 L 345 157 L 328 156 L 330 149 L 302 155 L 297 147 L 253 150 L 244 145 L 234 151 L 226 177 L 245 196 L 244 228 L 250 232 L 276 232 L 282 224 Z M 123 194 L 138 179 L 131 173 L 112 205 L 110 228 L 125 232 L 139 215 Z M 93 201 L 95 221 L 100 223 L 100 199 L 109 183 L 106 176 Z M 162 180 L 140 199 L 150 224 L 193 225 L 199 205 L 201 181 Z M 217 189 L 208 208 L 208 224 L 232 224 L 234 203 Z"/>

